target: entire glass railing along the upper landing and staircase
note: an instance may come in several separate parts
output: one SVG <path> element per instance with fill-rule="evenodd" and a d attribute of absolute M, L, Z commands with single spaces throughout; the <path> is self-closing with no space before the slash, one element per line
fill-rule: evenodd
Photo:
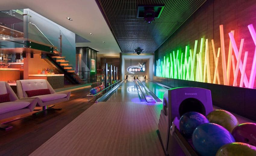
<path fill-rule="evenodd" d="M 22 53 L 24 48 L 37 49 L 38 53 L 57 52 L 75 66 L 76 44 L 72 35 L 30 9 L 0 11 L 0 53 Z"/>

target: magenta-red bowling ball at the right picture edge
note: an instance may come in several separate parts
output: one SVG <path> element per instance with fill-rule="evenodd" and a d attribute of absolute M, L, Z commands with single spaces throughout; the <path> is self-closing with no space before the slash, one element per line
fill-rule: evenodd
<path fill-rule="evenodd" d="M 256 124 L 255 123 L 242 123 L 236 126 L 232 135 L 236 142 L 248 143 L 256 146 Z"/>

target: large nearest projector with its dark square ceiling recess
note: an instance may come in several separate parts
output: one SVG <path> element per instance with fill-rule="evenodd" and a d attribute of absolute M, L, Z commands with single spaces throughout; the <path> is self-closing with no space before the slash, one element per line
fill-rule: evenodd
<path fill-rule="evenodd" d="M 137 17 L 151 23 L 161 15 L 163 8 L 164 5 L 138 5 Z"/>

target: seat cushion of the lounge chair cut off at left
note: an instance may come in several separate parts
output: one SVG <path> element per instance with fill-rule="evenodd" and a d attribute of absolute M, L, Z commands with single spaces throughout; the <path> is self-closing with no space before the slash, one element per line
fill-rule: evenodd
<path fill-rule="evenodd" d="M 11 112 L 14 110 L 20 110 L 30 105 L 27 101 L 12 101 L 4 102 L 0 104 L 0 114 Z"/>

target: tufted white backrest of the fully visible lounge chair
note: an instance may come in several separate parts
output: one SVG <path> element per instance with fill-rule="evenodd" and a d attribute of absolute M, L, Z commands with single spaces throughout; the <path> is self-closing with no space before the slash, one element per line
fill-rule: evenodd
<path fill-rule="evenodd" d="M 23 96 L 27 97 L 26 91 L 36 90 L 36 89 L 47 89 L 47 84 L 45 79 L 25 79 L 20 81 Z"/>

